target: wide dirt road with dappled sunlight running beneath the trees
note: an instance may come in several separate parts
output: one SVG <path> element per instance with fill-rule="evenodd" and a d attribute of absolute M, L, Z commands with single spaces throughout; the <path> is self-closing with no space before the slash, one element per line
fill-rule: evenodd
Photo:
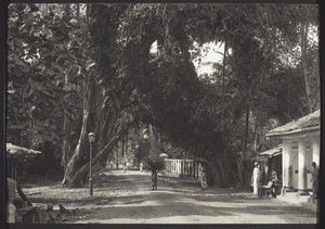
<path fill-rule="evenodd" d="M 87 189 L 70 195 L 78 192 L 79 201 L 65 201 L 79 208 L 68 224 L 316 224 L 312 211 L 235 189 L 202 193 L 195 180 L 159 177 L 158 190 L 152 191 L 150 174 L 140 171 L 106 171 L 94 196 L 82 198 Z"/>

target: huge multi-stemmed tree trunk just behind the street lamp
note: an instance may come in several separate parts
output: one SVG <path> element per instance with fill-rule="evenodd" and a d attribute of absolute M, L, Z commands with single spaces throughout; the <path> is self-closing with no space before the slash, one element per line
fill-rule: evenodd
<path fill-rule="evenodd" d="M 101 93 L 99 92 L 99 94 Z M 94 113 L 93 110 L 95 110 L 95 106 L 93 105 L 93 100 L 94 84 L 88 89 L 88 99 L 84 101 L 83 120 L 80 138 L 74 152 L 74 155 L 69 161 L 63 181 L 63 183 L 69 183 L 70 187 L 80 186 L 81 181 L 84 180 L 84 178 L 87 177 L 87 173 L 89 171 L 89 150 L 87 136 L 88 132 L 90 130 L 95 132 L 96 141 L 94 149 L 102 149 L 95 151 L 93 154 L 94 157 L 92 158 L 92 165 L 95 165 L 96 163 L 107 158 L 108 153 L 112 152 L 114 147 L 126 133 L 130 124 L 133 122 L 132 117 L 129 117 L 128 119 L 121 117 L 119 114 L 122 113 L 122 111 L 112 107 L 114 106 L 113 104 L 110 104 L 110 109 L 108 109 L 107 97 L 105 97 L 105 99 L 102 100 L 100 99 L 100 102 L 96 106 L 101 109 L 98 113 Z M 96 123 L 95 129 L 90 129 L 91 126 L 94 126 L 94 118 L 91 118 L 90 114 L 92 116 L 96 115 L 96 119 L 99 120 Z M 87 161 L 83 160 L 84 156 Z"/>

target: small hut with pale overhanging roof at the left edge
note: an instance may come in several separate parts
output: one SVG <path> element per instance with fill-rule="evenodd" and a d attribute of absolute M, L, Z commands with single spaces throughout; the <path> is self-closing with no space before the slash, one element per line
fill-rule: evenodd
<path fill-rule="evenodd" d="M 6 177 L 17 179 L 18 163 L 24 163 L 40 153 L 40 151 L 6 143 Z"/>

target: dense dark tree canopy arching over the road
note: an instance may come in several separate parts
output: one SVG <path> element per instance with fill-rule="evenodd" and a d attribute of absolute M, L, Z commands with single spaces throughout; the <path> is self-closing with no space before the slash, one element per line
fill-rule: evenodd
<path fill-rule="evenodd" d="M 64 183 L 78 186 L 87 173 L 88 132 L 96 133 L 98 163 L 128 129 L 145 124 L 164 139 L 150 139 L 150 156 L 172 152 L 170 145 L 204 156 L 214 182 L 229 186 L 237 182 L 238 157 L 272 147 L 265 131 L 320 107 L 320 92 L 311 90 L 320 87 L 317 42 L 308 36 L 317 30 L 314 5 L 9 10 L 8 81 L 15 92 L 8 132 L 13 143 L 54 144 Z M 193 61 L 207 42 L 224 44 L 223 62 L 198 76 Z"/>

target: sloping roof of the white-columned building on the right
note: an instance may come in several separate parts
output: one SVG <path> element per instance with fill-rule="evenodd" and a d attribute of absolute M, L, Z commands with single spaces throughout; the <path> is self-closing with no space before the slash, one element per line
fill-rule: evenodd
<path fill-rule="evenodd" d="M 321 127 L 321 111 L 317 110 L 304 117 L 292 120 L 284 126 L 266 132 L 266 137 L 287 136 L 300 132 L 320 131 Z"/>

